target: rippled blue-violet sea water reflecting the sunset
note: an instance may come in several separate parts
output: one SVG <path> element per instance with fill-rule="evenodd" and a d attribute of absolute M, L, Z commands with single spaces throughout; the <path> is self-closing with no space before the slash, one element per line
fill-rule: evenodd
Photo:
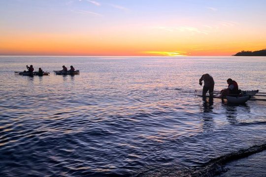
<path fill-rule="evenodd" d="M 27 64 L 50 76 L 14 73 Z M 230 163 L 266 161 L 266 101 L 197 97 L 205 73 L 266 92 L 266 57 L 1 56 L 0 176 L 264 176 Z"/>

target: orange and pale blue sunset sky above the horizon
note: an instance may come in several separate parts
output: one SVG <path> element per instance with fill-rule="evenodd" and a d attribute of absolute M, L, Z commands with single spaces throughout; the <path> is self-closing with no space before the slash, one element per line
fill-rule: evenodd
<path fill-rule="evenodd" d="M 266 49 L 266 0 L 0 0 L 0 55 L 231 56 Z"/>

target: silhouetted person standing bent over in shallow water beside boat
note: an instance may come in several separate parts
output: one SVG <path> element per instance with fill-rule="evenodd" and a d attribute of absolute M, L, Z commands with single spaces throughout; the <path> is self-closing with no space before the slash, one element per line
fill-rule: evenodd
<path fill-rule="evenodd" d="M 199 79 L 199 85 L 202 86 L 202 81 L 204 81 L 204 86 L 202 89 L 202 96 L 206 96 L 207 91 L 209 91 L 210 97 L 213 97 L 214 80 L 209 74 L 203 74 Z"/>

